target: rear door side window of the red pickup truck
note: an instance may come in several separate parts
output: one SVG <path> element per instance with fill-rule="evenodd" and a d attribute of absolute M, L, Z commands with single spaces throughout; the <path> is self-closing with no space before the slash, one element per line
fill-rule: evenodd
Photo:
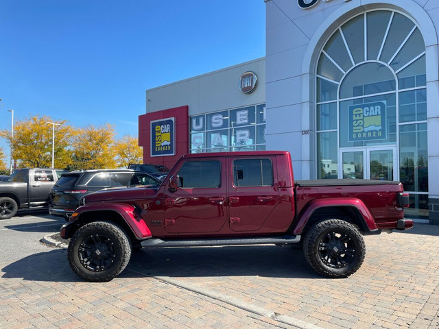
<path fill-rule="evenodd" d="M 271 160 L 234 160 L 233 184 L 235 186 L 272 186 L 273 166 Z"/>

